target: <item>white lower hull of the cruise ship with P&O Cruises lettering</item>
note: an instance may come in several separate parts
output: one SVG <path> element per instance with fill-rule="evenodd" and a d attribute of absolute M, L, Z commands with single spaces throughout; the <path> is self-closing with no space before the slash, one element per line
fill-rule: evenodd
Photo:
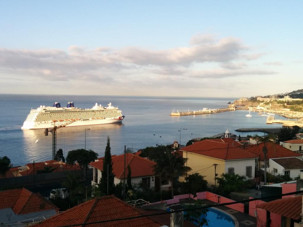
<path fill-rule="evenodd" d="M 85 125 L 98 125 L 98 124 L 110 124 L 110 123 L 119 123 L 122 122 L 125 116 L 117 117 L 117 118 L 105 118 L 105 119 L 91 119 L 91 120 L 78 120 L 69 123 L 65 127 L 73 127 L 73 126 L 85 126 Z M 62 122 L 55 122 L 55 126 L 60 126 L 66 124 L 66 121 Z M 45 129 L 45 128 L 53 128 L 54 122 L 32 122 L 32 121 L 25 121 L 21 129 Z"/>

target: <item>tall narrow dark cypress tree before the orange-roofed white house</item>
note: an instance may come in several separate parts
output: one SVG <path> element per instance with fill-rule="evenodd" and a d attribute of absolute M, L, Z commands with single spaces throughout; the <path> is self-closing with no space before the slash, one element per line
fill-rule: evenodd
<path fill-rule="evenodd" d="M 115 184 L 114 184 L 115 175 L 113 174 L 112 165 L 113 163 L 112 163 L 110 139 L 109 136 L 107 136 L 107 144 L 105 147 L 105 154 L 103 159 L 103 170 L 101 170 L 102 177 L 100 180 L 99 187 L 101 189 L 101 192 L 106 194 L 108 187 L 108 195 L 113 194 L 115 191 Z"/>

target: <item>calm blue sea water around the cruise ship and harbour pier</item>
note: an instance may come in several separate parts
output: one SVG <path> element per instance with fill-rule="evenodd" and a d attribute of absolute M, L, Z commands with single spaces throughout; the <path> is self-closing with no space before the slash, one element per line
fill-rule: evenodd
<path fill-rule="evenodd" d="M 106 138 L 111 139 L 112 154 L 122 154 L 124 145 L 127 148 L 141 149 L 156 144 L 181 144 L 196 137 L 209 137 L 224 133 L 226 128 L 239 135 L 235 129 L 242 127 L 281 127 L 266 125 L 266 117 L 251 113 L 245 117 L 246 110 L 196 116 L 172 117 L 175 111 L 223 108 L 229 101 L 237 98 L 198 98 L 198 97 L 135 97 L 135 96 L 55 96 L 55 95 L 11 95 L 0 94 L 0 156 L 8 156 L 11 162 L 21 165 L 29 162 L 49 160 L 52 158 L 52 135 L 44 136 L 43 130 L 21 130 L 21 126 L 31 108 L 40 105 L 52 106 L 59 101 L 65 106 L 74 101 L 75 107 L 92 108 L 97 102 L 107 106 L 112 102 L 125 115 L 122 123 L 97 126 L 64 127 L 57 131 L 57 150 L 63 149 L 66 156 L 69 150 L 84 148 L 85 128 L 86 149 L 94 150 L 99 156 L 104 155 Z M 155 134 L 155 135 L 153 135 Z M 255 134 L 255 133 L 249 133 Z M 260 133 L 259 133 L 260 134 Z M 241 134 L 246 136 L 247 133 Z"/>

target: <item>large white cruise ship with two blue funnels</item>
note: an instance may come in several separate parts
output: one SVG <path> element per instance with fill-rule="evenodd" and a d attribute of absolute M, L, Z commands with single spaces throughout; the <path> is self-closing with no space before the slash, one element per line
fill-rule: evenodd
<path fill-rule="evenodd" d="M 31 110 L 21 129 L 43 129 L 65 125 L 65 127 L 109 124 L 121 122 L 125 116 L 118 107 L 111 103 L 108 107 L 98 106 L 96 103 L 92 109 L 80 109 L 74 107 L 73 102 L 68 102 L 67 107 L 61 107 L 55 102 L 52 107 L 40 106 Z"/>

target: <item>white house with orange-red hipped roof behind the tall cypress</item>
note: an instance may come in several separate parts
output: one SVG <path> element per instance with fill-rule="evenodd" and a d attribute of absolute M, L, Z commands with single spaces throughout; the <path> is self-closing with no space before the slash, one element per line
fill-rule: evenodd
<path fill-rule="evenodd" d="M 160 182 L 158 176 L 155 176 L 153 171 L 153 166 L 156 164 L 148 159 L 142 158 L 135 154 L 126 154 L 126 169 L 125 169 L 125 182 L 128 175 L 128 167 L 131 168 L 132 184 L 137 184 L 142 182 L 146 187 L 160 187 Z M 118 184 L 124 182 L 124 155 L 112 156 L 113 163 L 113 174 L 115 175 L 114 183 Z M 93 184 L 100 183 L 100 178 L 102 177 L 101 170 L 103 170 L 103 159 L 96 162 L 90 163 L 93 167 Z M 162 187 L 168 187 L 169 185 L 162 181 Z"/>

